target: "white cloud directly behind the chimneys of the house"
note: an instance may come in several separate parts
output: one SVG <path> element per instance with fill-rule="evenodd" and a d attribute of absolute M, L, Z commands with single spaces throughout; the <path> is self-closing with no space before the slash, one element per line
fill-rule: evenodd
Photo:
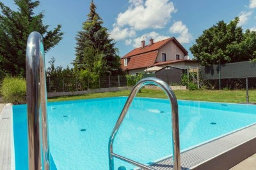
<path fill-rule="evenodd" d="M 142 36 L 133 39 L 133 46 L 134 46 L 134 48 L 140 47 L 141 46 L 141 41 L 143 39 L 146 41 L 145 45 L 148 45 L 150 38 L 154 39 L 154 42 L 157 42 L 157 41 L 161 41 L 163 39 L 167 39 L 167 38 L 170 38 L 170 37 L 162 36 L 162 35 L 160 35 L 159 33 L 155 32 L 155 31 L 152 31 L 152 32 L 149 32 L 149 33 L 145 33 Z"/>

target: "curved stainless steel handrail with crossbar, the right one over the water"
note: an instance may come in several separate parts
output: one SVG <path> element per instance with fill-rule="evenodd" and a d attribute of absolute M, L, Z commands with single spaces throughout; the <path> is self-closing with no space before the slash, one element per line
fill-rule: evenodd
<path fill-rule="evenodd" d="M 125 106 L 116 122 L 116 125 L 111 133 L 111 136 L 109 138 L 108 143 L 108 155 L 109 155 L 109 170 L 114 169 L 114 157 L 124 160 L 125 162 L 129 162 L 131 164 L 134 164 L 135 166 L 138 166 L 142 169 L 146 170 L 154 170 L 152 167 L 145 166 L 144 164 L 140 164 L 139 162 L 136 162 L 131 159 L 127 159 L 125 157 L 122 157 L 120 155 L 117 155 L 113 152 L 113 142 L 116 136 L 116 133 L 118 132 L 118 129 L 120 125 L 122 124 L 124 117 L 129 110 L 132 100 L 136 96 L 137 92 L 143 87 L 144 85 L 153 84 L 157 85 L 161 89 L 164 90 L 166 95 L 171 101 L 171 108 L 172 108 L 172 138 L 173 138 L 173 169 L 174 170 L 180 170 L 180 141 L 179 141 L 179 115 L 178 115 L 178 103 L 175 94 L 173 93 L 172 89 L 165 83 L 163 80 L 160 80 L 158 78 L 144 78 L 140 80 L 132 89 L 131 94 L 129 95 Z"/>

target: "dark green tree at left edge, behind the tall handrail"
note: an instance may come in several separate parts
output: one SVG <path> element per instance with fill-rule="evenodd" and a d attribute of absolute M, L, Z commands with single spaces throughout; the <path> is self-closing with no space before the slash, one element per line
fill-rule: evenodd
<path fill-rule="evenodd" d="M 44 38 L 44 50 L 49 51 L 62 39 L 61 25 L 49 31 L 43 24 L 44 13 L 37 15 L 34 9 L 39 1 L 14 0 L 17 11 L 0 2 L 0 72 L 25 77 L 26 43 L 32 31 L 38 31 Z"/>

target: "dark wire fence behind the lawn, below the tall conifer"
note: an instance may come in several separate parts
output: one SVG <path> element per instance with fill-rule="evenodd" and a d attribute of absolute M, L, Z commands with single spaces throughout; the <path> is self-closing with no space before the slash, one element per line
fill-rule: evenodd
<path fill-rule="evenodd" d="M 96 81 L 76 77 L 46 77 L 47 92 L 74 92 L 106 87 L 125 87 L 125 76 L 100 76 Z"/>

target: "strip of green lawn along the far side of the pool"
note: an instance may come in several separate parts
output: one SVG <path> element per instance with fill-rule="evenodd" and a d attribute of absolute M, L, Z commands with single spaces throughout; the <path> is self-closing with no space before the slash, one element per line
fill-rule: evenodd
<path fill-rule="evenodd" d="M 191 101 L 215 101 L 225 103 L 244 103 L 246 102 L 245 90 L 174 90 L 177 99 L 191 100 Z M 80 96 L 61 96 L 52 97 L 48 101 L 70 101 L 78 99 L 93 99 L 100 97 L 116 97 L 116 96 L 129 96 L 130 90 L 120 92 L 106 92 L 95 94 L 84 94 Z M 138 97 L 154 97 L 166 98 L 163 90 L 149 90 L 142 89 L 141 93 L 137 94 Z M 249 91 L 250 102 L 256 103 L 256 90 Z"/>

